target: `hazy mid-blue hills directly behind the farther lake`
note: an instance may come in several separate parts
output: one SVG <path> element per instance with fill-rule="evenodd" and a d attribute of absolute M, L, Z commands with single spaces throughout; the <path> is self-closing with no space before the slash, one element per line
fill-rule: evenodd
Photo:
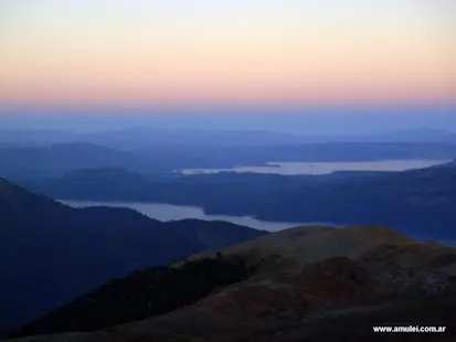
<path fill-rule="evenodd" d="M 214 135 L 211 139 L 218 141 Z M 171 139 L 172 140 L 172 139 Z M 10 179 L 61 177 L 75 169 L 119 168 L 144 174 L 182 169 L 265 165 L 268 162 L 354 162 L 384 160 L 449 160 L 456 143 L 331 142 L 218 146 L 183 142 L 120 149 L 92 142 L 44 146 L 0 145 L 0 174 Z"/>

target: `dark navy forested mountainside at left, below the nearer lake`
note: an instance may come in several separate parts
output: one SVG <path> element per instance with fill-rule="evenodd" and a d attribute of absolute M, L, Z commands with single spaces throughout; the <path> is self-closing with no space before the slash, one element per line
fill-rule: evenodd
<path fill-rule="evenodd" d="M 0 179 L 0 333 L 135 269 L 266 234 L 225 222 L 162 223 L 74 210 Z"/>

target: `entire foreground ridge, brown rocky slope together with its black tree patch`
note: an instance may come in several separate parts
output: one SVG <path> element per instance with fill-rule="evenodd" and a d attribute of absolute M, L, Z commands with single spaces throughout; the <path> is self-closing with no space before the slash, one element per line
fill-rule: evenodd
<path fill-rule="evenodd" d="M 391 228 L 298 227 L 108 282 L 19 332 L 67 333 L 14 341 L 453 341 L 455 277 L 455 249 Z"/>

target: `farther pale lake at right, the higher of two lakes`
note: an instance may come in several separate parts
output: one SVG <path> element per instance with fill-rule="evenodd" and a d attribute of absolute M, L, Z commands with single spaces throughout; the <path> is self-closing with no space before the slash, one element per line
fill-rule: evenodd
<path fill-rule="evenodd" d="M 354 162 L 268 162 L 266 167 L 237 167 L 232 169 L 183 169 L 183 174 L 254 172 L 284 175 L 328 174 L 335 171 L 405 171 L 450 162 L 450 160 L 381 160 Z"/>

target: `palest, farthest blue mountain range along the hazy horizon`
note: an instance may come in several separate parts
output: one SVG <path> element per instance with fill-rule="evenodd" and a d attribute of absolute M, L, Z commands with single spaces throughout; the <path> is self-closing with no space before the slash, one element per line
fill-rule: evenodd
<path fill-rule="evenodd" d="M 456 131 L 416 128 L 370 135 L 298 135 L 266 130 L 153 129 L 131 127 L 77 132 L 71 130 L 2 129 L 0 145 L 55 145 L 88 142 L 116 149 L 153 146 L 273 146 L 311 142 L 438 142 L 456 143 Z"/>

